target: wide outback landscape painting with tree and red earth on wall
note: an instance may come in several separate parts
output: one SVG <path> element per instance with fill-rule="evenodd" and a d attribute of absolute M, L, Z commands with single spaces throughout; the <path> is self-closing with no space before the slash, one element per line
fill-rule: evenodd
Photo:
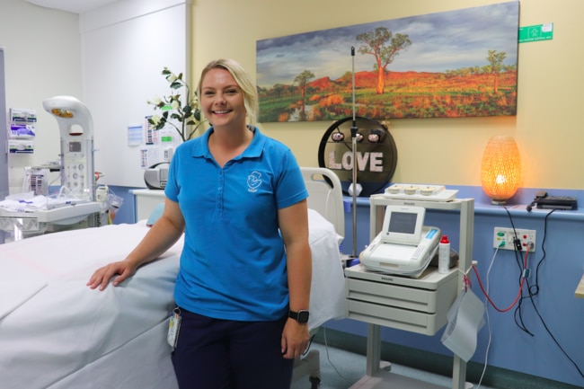
<path fill-rule="evenodd" d="M 515 115 L 518 23 L 509 2 L 258 40 L 260 121 Z"/>

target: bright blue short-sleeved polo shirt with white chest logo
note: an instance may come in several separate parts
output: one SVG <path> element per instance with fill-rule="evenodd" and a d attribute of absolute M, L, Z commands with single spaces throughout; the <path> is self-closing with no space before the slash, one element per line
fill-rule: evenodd
<path fill-rule="evenodd" d="M 252 130 L 250 146 L 223 168 L 208 150 L 213 128 L 178 146 L 169 168 L 164 191 L 186 222 L 174 299 L 196 314 L 268 321 L 288 310 L 277 210 L 308 192 L 288 146 Z"/>

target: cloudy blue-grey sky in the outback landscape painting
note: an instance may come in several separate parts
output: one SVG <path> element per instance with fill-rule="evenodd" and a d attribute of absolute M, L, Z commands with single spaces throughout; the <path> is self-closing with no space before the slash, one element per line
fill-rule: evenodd
<path fill-rule="evenodd" d="M 257 83 L 262 87 L 292 84 L 296 75 L 310 70 L 315 78 L 336 79 L 351 71 L 372 70 L 372 55 L 358 53 L 363 32 L 385 27 L 407 34 L 411 46 L 394 57 L 389 71 L 445 72 L 488 65 L 489 50 L 505 51 L 506 65 L 517 64 L 519 3 L 485 5 L 445 13 L 356 24 L 267 40 L 258 40 Z"/>

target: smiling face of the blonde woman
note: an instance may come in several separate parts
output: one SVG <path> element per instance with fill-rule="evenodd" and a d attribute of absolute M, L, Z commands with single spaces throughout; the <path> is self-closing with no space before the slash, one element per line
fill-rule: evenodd
<path fill-rule="evenodd" d="M 209 70 L 202 80 L 200 94 L 201 109 L 214 128 L 245 128 L 243 92 L 226 69 Z"/>

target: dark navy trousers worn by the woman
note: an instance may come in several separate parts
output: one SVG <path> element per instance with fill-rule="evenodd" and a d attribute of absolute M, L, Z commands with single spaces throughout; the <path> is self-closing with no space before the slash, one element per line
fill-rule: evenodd
<path fill-rule="evenodd" d="M 235 322 L 181 308 L 173 366 L 180 389 L 289 389 L 294 359 L 282 357 L 287 317 Z"/>

